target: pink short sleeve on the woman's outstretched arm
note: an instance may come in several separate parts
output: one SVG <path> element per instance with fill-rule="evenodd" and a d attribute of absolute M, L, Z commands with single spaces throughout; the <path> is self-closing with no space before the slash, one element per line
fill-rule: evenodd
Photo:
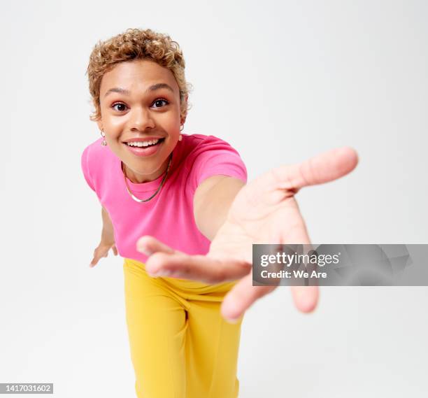
<path fill-rule="evenodd" d="M 220 140 L 219 140 L 220 141 Z M 194 186 L 211 176 L 229 176 L 247 182 L 247 169 L 238 152 L 225 141 L 209 145 L 199 153 L 194 164 Z"/>

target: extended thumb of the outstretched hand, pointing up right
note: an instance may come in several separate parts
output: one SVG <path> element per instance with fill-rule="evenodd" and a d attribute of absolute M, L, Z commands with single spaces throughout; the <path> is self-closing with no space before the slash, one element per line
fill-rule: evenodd
<path fill-rule="evenodd" d="M 350 173 L 358 163 L 357 152 L 350 147 L 336 148 L 300 164 L 280 166 L 271 173 L 280 189 L 298 191 L 301 187 L 328 183 Z"/>

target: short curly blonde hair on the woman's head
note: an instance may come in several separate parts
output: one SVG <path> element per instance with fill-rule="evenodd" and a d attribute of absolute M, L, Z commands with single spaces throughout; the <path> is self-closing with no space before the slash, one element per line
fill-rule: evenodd
<path fill-rule="evenodd" d="M 106 41 L 99 41 L 91 52 L 87 76 L 95 111 L 90 120 L 101 118 L 99 90 L 104 73 L 119 62 L 133 59 L 150 59 L 173 73 L 180 90 L 180 115 L 185 118 L 190 109 L 186 97 L 192 90 L 192 85 L 185 79 L 185 60 L 180 46 L 168 35 L 151 29 L 127 29 Z"/>

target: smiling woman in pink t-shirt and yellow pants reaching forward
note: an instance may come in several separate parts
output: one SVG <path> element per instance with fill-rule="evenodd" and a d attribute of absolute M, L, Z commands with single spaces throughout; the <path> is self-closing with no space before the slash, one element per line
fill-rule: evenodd
<path fill-rule="evenodd" d="M 92 120 L 102 138 L 84 150 L 82 168 L 101 202 L 103 230 L 91 265 L 110 248 L 124 257 L 138 397 L 232 398 L 239 390 L 243 310 L 273 287 L 242 294 L 231 323 L 220 313 L 236 284 L 231 280 L 250 275 L 251 243 L 266 236 L 307 243 L 294 193 L 347 173 L 356 157 L 335 152 L 317 160 L 316 176 L 304 168 L 277 170 L 244 188 L 247 173 L 234 148 L 214 136 L 181 133 L 188 108 L 184 69 L 178 44 L 150 29 L 128 29 L 92 51 Z M 138 241 L 145 235 L 152 237 Z M 248 280 L 238 283 L 241 289 L 248 291 Z M 311 311 L 317 290 L 294 291 L 297 306 Z"/>

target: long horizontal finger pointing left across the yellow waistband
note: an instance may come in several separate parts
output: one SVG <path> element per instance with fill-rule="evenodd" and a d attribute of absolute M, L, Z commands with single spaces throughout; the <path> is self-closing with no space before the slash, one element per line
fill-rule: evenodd
<path fill-rule="evenodd" d="M 211 284 L 242 278 L 251 269 L 251 264 L 242 260 L 224 261 L 183 253 L 155 253 L 149 257 L 145 266 L 152 276 L 171 276 Z"/>

